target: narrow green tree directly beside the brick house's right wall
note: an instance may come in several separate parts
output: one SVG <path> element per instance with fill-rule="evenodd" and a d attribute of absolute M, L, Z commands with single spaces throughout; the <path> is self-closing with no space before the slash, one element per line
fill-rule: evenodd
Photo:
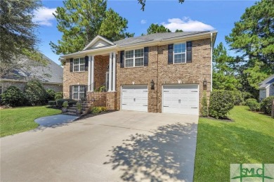
<path fill-rule="evenodd" d="M 237 90 L 240 82 L 235 76 L 235 58 L 228 56 L 223 43 L 218 44 L 213 52 L 213 89 Z"/>

